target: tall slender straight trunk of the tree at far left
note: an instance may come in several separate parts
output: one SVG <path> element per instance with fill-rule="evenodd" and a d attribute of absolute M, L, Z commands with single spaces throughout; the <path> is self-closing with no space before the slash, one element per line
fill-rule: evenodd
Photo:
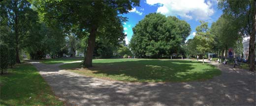
<path fill-rule="evenodd" d="M 15 6 L 16 5 L 16 2 L 15 2 Z M 18 32 L 18 14 L 17 14 L 17 9 L 15 9 L 15 42 L 16 42 L 16 63 L 21 63 L 20 61 L 20 56 L 19 56 L 19 32 Z"/>

